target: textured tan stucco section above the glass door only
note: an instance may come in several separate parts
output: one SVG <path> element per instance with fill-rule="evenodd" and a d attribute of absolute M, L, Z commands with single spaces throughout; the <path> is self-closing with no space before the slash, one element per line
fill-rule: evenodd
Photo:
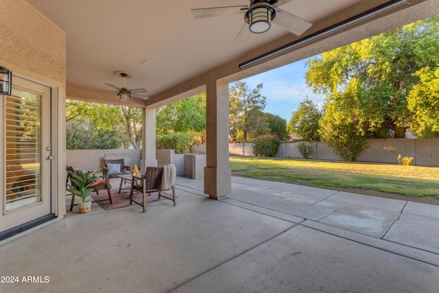
<path fill-rule="evenodd" d="M 2 60 L 65 85 L 66 36 L 60 27 L 23 0 L 1 0 L 0 27 Z"/>

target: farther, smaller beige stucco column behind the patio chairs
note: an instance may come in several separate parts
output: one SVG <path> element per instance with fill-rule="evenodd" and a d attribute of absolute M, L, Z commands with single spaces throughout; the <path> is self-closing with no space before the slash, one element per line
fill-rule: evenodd
<path fill-rule="evenodd" d="M 142 111 L 142 150 L 141 171 L 146 167 L 156 167 L 156 108 L 143 108 Z"/>

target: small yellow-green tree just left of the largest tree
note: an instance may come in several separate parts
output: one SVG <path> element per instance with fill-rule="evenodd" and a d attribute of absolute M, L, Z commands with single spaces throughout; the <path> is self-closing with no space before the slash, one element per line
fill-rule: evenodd
<path fill-rule="evenodd" d="M 320 139 L 318 121 L 321 117 L 322 113 L 318 106 L 313 104 L 311 99 L 306 98 L 300 102 L 298 110 L 292 113 L 287 131 L 290 134 L 297 134 L 304 141 L 317 141 Z"/>

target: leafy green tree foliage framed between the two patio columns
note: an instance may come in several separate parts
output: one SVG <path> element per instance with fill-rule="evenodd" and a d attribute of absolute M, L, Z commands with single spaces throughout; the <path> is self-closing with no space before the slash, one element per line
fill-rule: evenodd
<path fill-rule="evenodd" d="M 156 132 L 206 132 L 206 93 L 157 108 Z"/>

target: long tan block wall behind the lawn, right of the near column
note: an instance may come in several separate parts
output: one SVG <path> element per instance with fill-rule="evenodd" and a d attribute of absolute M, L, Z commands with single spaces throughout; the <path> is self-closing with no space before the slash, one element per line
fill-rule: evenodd
<path fill-rule="evenodd" d="M 302 159 L 297 149 L 298 142 L 282 141 L 276 154 L 279 158 Z M 340 161 L 333 148 L 321 141 L 311 142 L 309 159 Z M 233 143 L 229 153 L 239 156 L 253 156 L 252 143 Z M 439 166 L 439 139 L 370 139 L 363 152 L 358 156 L 359 162 L 397 163 L 398 155 L 412 156 L 414 165 Z"/>

